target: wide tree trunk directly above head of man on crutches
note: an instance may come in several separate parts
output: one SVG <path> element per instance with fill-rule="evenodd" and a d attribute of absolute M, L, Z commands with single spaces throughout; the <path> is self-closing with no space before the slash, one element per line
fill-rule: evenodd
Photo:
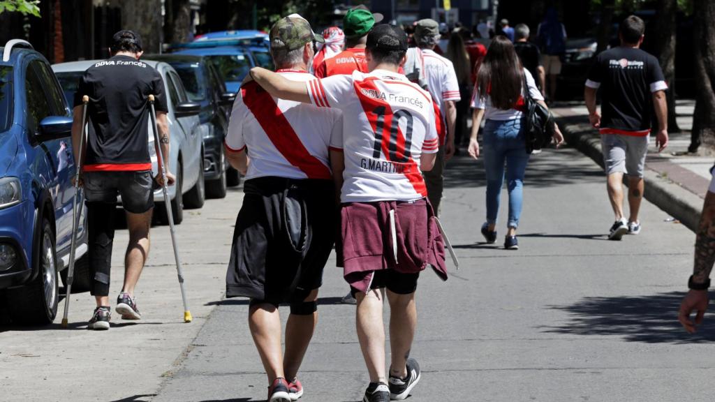
<path fill-rule="evenodd" d="M 159 53 L 162 43 L 161 0 L 115 0 L 122 7 L 122 29 L 131 29 L 142 36 L 144 52 Z"/>

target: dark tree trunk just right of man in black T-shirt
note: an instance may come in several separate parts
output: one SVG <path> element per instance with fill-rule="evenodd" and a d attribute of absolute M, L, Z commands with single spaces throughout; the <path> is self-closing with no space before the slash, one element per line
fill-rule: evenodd
<path fill-rule="evenodd" d="M 658 0 L 659 10 L 656 13 L 654 28 L 654 44 L 656 56 L 663 69 L 663 75 L 668 84 L 666 98 L 668 100 L 668 131 L 680 132 L 675 112 L 675 56 L 676 56 L 676 16 L 677 0 Z"/>

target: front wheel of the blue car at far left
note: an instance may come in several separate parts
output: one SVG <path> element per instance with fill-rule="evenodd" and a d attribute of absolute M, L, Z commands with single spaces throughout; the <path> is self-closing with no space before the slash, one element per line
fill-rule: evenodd
<path fill-rule="evenodd" d="M 9 289 L 6 294 L 8 312 L 14 323 L 46 325 L 57 315 L 57 255 L 54 231 L 47 220 L 42 222 L 39 239 L 39 272 L 36 278 L 20 288 Z"/>

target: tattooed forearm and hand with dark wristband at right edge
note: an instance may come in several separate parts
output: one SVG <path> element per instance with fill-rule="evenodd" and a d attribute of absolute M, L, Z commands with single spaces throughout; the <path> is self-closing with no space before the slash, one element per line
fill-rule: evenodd
<path fill-rule="evenodd" d="M 705 196 L 705 204 L 695 240 L 694 284 L 706 283 L 710 277 L 713 263 L 715 263 L 715 193 L 708 192 Z M 678 320 L 689 333 L 694 333 L 695 326 L 703 322 L 708 301 L 707 290 L 689 290 L 683 299 Z M 690 313 L 693 310 L 698 312 L 695 316 L 695 323 L 690 320 Z"/>

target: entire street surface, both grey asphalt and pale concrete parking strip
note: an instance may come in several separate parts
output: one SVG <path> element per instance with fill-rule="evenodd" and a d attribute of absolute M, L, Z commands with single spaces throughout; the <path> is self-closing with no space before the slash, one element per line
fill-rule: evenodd
<path fill-rule="evenodd" d="M 420 279 L 413 356 L 424 375 L 409 401 L 710 399 L 715 318 L 696 336 L 675 320 L 692 232 L 645 202 L 641 235 L 605 240 L 612 218 L 603 175 L 563 149 L 533 158 L 522 248 L 506 251 L 479 243 L 481 163 L 458 158 L 448 177 L 443 222 L 463 268 L 446 283 L 432 273 Z M 232 192 L 209 201 L 179 229 L 194 323 L 181 323 L 168 232 L 160 227 L 139 289 L 146 319 L 117 320 L 107 333 L 79 330 L 92 302 L 74 295 L 78 330 L 0 328 L 0 400 L 263 401 L 266 380 L 247 305 L 222 300 L 240 200 Z M 500 243 L 505 217 L 503 211 Z M 117 238 L 119 250 L 126 232 Z M 304 401 L 359 401 L 368 382 L 354 307 L 337 303 L 346 286 L 332 261 L 300 372 Z M 118 290 L 121 269 L 114 272 Z"/>

